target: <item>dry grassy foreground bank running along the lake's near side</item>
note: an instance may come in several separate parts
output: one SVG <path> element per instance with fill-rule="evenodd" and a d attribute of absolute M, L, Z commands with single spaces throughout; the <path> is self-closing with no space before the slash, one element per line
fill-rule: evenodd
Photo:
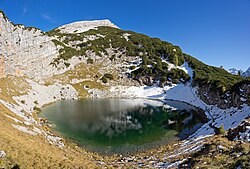
<path fill-rule="evenodd" d="M 134 154 L 133 158 L 136 159 L 136 163 L 126 162 L 122 156 L 101 156 L 86 152 L 72 143 L 66 143 L 66 147 L 60 149 L 50 145 L 41 136 L 31 136 L 14 129 L 11 126 L 14 122 L 4 114 L 15 117 L 12 112 L 0 105 L 0 150 L 4 150 L 7 154 L 7 157 L 0 159 L 0 168 L 11 168 L 15 165 L 20 168 L 103 168 L 105 166 L 133 168 L 137 166 L 136 163 L 140 162 L 150 166 L 150 160 L 145 160 L 150 156 L 164 162 L 166 161 L 164 160 L 165 154 L 179 147 L 178 142 L 163 145 Z M 198 153 L 180 155 L 167 161 L 174 162 L 189 158 L 192 168 L 234 168 L 238 164 L 247 168 L 250 165 L 249 155 L 247 155 L 250 151 L 249 143 L 228 141 L 219 135 L 207 138 L 205 145 L 204 149 Z M 219 151 L 219 145 L 228 150 Z"/>

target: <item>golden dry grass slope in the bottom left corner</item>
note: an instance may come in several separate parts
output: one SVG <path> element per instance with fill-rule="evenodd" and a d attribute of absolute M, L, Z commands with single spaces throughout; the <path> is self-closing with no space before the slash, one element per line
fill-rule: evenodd
<path fill-rule="evenodd" d="M 43 136 L 32 136 L 12 127 L 15 123 L 4 114 L 9 112 L 0 105 L 0 150 L 7 157 L 0 159 L 0 168 L 96 168 L 98 155 L 86 152 L 75 145 L 63 149 L 50 145 Z M 12 114 L 12 117 L 15 117 Z M 100 167 L 100 166 L 99 166 Z"/>

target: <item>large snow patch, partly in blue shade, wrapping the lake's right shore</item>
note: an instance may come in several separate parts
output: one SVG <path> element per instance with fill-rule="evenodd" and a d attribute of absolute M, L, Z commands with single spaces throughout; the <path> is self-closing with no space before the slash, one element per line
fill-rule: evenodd
<path fill-rule="evenodd" d="M 182 67 L 192 77 L 193 71 L 188 64 L 185 63 Z M 110 92 L 118 93 L 120 97 L 125 98 L 182 101 L 203 109 L 210 121 L 198 129 L 189 139 L 214 134 L 214 130 L 209 126 L 210 123 L 216 127 L 220 127 L 223 124 L 225 130 L 228 130 L 229 128 L 236 127 L 243 119 L 250 116 L 250 106 L 246 104 L 243 104 L 240 109 L 233 107 L 229 109 L 220 109 L 216 105 L 207 105 L 198 97 L 197 88 L 192 87 L 191 82 L 186 85 L 177 84 L 164 88 L 158 86 L 114 86 L 111 87 Z"/>

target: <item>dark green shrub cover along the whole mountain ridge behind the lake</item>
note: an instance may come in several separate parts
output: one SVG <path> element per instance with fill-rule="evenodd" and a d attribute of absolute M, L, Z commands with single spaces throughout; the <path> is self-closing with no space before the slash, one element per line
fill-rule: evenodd
<path fill-rule="evenodd" d="M 128 41 L 123 37 L 125 33 L 129 34 Z M 89 30 L 83 33 L 66 34 L 55 29 L 46 34 L 56 36 L 62 41 L 53 40 L 55 45 L 63 47 L 59 50 L 60 55 L 53 60 L 52 64 L 55 66 L 73 56 L 86 56 L 87 51 L 92 51 L 102 57 L 103 55 L 108 55 L 106 49 L 112 47 L 116 53 L 120 51 L 124 55 L 142 58 L 143 62 L 139 69 L 132 72 L 133 77 L 154 76 L 154 80 L 160 80 L 162 83 L 167 80 L 171 80 L 173 83 L 190 80 L 189 75 L 180 69 L 168 70 L 168 64 L 162 62 L 161 58 L 164 58 L 174 65 L 182 65 L 186 60 L 194 70 L 193 85 L 206 85 L 211 90 L 219 91 L 220 93 L 233 89 L 236 90 L 239 87 L 238 83 L 244 80 L 240 76 L 228 73 L 223 68 L 208 66 L 192 56 L 183 54 L 178 46 L 132 31 L 99 27 L 96 30 Z M 83 42 L 89 35 L 95 35 L 96 39 Z M 82 41 L 82 43 L 75 46 L 69 45 L 75 41 Z M 119 56 L 113 54 L 109 57 L 113 61 Z M 87 62 L 92 63 L 92 60 L 88 59 Z"/>

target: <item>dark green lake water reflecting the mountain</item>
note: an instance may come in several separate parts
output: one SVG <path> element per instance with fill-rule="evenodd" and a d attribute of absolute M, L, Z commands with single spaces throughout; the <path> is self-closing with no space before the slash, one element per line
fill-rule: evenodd
<path fill-rule="evenodd" d="M 42 115 L 56 131 L 83 147 L 124 153 L 185 138 L 201 126 L 194 110 L 166 107 L 141 99 L 66 100 L 46 106 Z"/>

